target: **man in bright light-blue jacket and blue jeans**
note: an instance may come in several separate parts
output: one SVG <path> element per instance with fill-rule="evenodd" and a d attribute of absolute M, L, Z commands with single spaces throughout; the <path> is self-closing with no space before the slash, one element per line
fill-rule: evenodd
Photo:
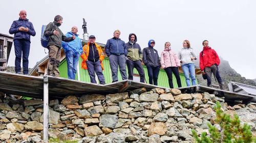
<path fill-rule="evenodd" d="M 62 41 L 62 47 L 65 50 L 66 60 L 68 64 L 69 79 L 75 79 L 79 56 L 82 53 L 82 43 L 81 39 L 78 37 L 77 32 L 77 26 L 73 26 L 71 28 L 71 32 L 68 32 L 66 36 L 72 37 L 74 35 L 76 39 L 71 42 Z"/>

